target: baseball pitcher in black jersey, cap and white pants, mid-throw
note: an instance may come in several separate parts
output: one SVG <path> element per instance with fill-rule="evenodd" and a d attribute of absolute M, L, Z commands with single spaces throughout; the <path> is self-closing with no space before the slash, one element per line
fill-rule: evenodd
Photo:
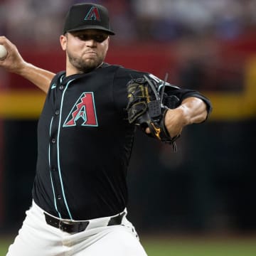
<path fill-rule="evenodd" d="M 47 93 L 33 201 L 8 256 L 146 255 L 127 220 L 135 127 L 174 144 L 183 127 L 205 121 L 211 107 L 199 92 L 105 63 L 113 35 L 104 6 L 71 6 L 60 36 L 66 69 L 57 74 L 26 63 L 0 37 L 8 52 L 0 65 Z"/>

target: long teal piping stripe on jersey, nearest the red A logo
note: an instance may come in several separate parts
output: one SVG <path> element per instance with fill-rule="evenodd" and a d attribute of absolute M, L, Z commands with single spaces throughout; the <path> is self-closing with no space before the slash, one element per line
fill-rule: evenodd
<path fill-rule="evenodd" d="M 75 80 L 75 79 L 73 79 Z M 67 203 L 67 200 L 65 198 L 65 191 L 64 191 L 64 186 L 63 186 L 63 180 L 62 180 L 62 176 L 61 176 L 61 169 L 60 169 L 60 126 L 61 126 L 61 116 L 62 116 L 62 109 L 63 109 L 63 100 L 64 100 L 64 96 L 65 96 L 65 92 L 66 90 L 68 89 L 68 85 L 70 84 L 70 82 L 72 82 L 73 80 L 70 80 L 64 91 L 63 91 L 63 95 L 61 97 L 61 102 L 60 102 L 60 120 L 59 120 L 59 124 L 58 124 L 58 134 L 57 134 L 57 157 L 58 157 L 58 173 L 59 173 L 59 176 L 60 176 L 60 186 L 61 186 L 61 189 L 62 189 L 62 193 L 63 193 L 63 200 L 65 202 L 65 207 L 66 209 L 68 210 L 68 215 L 70 216 L 70 220 L 73 220 L 72 218 L 72 215 L 70 213 L 70 209 L 68 207 L 68 203 Z"/>

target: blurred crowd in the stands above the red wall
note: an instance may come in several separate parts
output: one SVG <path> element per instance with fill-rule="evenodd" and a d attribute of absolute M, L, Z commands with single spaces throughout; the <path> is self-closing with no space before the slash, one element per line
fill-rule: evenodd
<path fill-rule="evenodd" d="M 0 0 L 0 34 L 33 45 L 58 43 L 63 18 L 75 0 Z M 110 11 L 123 42 L 174 41 L 213 34 L 232 40 L 256 26 L 256 0 L 90 0 Z"/>

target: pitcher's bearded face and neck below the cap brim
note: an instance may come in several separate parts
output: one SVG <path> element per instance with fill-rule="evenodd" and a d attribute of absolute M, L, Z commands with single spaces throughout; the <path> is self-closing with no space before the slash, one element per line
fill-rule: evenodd
<path fill-rule="evenodd" d="M 107 33 L 95 29 L 60 36 L 60 45 L 67 55 L 67 75 L 87 73 L 97 68 L 105 59 L 109 42 Z"/>

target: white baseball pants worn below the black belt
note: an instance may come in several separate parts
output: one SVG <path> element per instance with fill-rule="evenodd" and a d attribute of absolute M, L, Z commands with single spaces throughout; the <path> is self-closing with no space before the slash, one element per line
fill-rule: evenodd
<path fill-rule="evenodd" d="M 110 218 L 90 221 L 85 231 L 65 233 L 46 223 L 43 210 L 32 203 L 6 256 L 146 256 L 132 223 L 101 225 Z"/>

